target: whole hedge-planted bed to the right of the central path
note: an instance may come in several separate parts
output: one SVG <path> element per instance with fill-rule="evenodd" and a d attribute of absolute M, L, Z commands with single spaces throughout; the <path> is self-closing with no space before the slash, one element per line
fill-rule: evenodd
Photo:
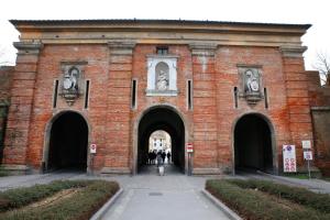
<path fill-rule="evenodd" d="M 207 180 L 206 189 L 243 219 L 330 219 L 330 196 L 264 180 Z"/>

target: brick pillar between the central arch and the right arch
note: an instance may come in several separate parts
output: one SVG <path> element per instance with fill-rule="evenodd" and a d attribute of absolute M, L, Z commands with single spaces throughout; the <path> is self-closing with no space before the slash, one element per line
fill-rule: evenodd
<path fill-rule="evenodd" d="M 194 174 L 218 174 L 218 118 L 215 52 L 217 45 L 190 45 L 194 84 Z"/>

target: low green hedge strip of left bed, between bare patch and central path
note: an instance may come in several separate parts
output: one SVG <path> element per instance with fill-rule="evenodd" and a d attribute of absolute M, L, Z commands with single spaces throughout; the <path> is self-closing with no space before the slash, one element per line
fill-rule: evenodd
<path fill-rule="evenodd" d="M 119 189 L 114 182 L 82 180 L 64 182 L 73 187 L 82 187 L 70 197 L 41 208 L 22 208 L 0 213 L 0 219 L 89 219 Z M 73 188 L 68 187 L 68 188 Z"/>

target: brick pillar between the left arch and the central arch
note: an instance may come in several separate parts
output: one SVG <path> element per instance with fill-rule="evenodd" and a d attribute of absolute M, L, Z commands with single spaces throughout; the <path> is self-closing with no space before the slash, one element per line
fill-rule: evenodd
<path fill-rule="evenodd" d="M 111 42 L 107 150 L 101 173 L 131 173 L 131 80 L 134 43 Z"/>

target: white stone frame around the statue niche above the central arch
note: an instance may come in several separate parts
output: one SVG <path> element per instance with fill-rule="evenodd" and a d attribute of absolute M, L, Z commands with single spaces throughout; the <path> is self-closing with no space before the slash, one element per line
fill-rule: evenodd
<path fill-rule="evenodd" d="M 147 86 L 146 96 L 177 96 L 177 58 L 174 55 L 148 55 L 147 56 Z M 168 66 L 168 89 L 156 89 L 156 66 L 160 63 L 165 63 Z"/>

